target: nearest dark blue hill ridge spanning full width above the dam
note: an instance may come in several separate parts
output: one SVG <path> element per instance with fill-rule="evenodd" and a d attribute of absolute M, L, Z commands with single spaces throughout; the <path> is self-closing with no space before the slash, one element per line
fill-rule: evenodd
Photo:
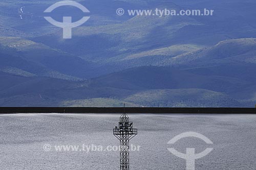
<path fill-rule="evenodd" d="M 169 67 L 136 67 L 77 82 L 3 72 L 1 79 L 6 80 L 0 91 L 1 106 L 117 106 L 128 102 L 131 106 L 242 107 L 255 101 L 253 83 Z M 246 98 L 245 93 L 251 95 Z"/>

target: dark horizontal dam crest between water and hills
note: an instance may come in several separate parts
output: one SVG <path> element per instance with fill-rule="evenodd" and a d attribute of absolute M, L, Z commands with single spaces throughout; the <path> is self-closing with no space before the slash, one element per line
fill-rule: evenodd
<path fill-rule="evenodd" d="M 0 113 L 121 113 L 122 107 L 0 107 Z M 256 108 L 126 107 L 126 113 L 256 114 Z"/>

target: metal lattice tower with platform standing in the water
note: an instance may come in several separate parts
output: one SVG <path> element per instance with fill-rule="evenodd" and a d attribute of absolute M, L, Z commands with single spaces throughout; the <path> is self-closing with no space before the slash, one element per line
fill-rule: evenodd
<path fill-rule="evenodd" d="M 133 128 L 133 122 L 129 122 L 129 117 L 125 113 L 125 105 L 123 114 L 120 116 L 119 126 L 113 129 L 113 134 L 120 141 L 120 169 L 129 170 L 129 141 L 137 135 L 137 129 Z"/>

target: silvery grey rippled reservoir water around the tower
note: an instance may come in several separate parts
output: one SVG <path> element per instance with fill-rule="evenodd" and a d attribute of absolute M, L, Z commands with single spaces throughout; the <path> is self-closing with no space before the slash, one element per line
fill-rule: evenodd
<path fill-rule="evenodd" d="M 54 145 L 118 145 L 113 128 L 118 114 L 11 114 L 0 115 L 0 169 L 119 169 L 118 151 L 56 152 Z M 196 169 L 256 169 L 256 115 L 132 114 L 140 145 L 130 153 L 130 169 L 186 169 L 185 160 L 167 148 L 200 153 Z M 214 144 L 197 138 L 167 142 L 183 132 L 198 132 Z M 44 151 L 50 144 L 51 151 Z"/>

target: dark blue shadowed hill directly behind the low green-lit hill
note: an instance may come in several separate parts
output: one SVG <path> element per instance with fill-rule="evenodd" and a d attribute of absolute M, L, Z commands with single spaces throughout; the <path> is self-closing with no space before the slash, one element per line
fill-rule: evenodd
<path fill-rule="evenodd" d="M 113 87 L 127 90 L 203 88 L 236 92 L 253 85 L 236 78 L 203 76 L 172 67 L 142 66 L 91 79 L 91 87 Z"/>

